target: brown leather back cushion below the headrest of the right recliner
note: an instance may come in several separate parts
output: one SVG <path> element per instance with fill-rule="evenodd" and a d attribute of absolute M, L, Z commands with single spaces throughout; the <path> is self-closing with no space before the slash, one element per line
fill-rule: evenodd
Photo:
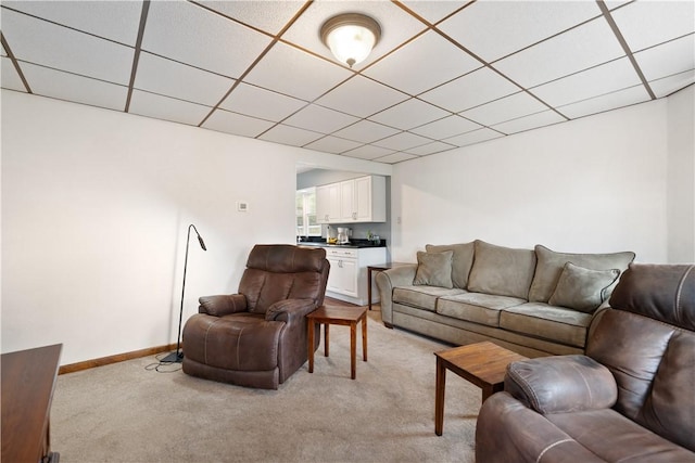
<path fill-rule="evenodd" d="M 617 411 L 695 451 L 695 333 L 607 309 L 592 326 L 586 355 L 612 372 Z"/>

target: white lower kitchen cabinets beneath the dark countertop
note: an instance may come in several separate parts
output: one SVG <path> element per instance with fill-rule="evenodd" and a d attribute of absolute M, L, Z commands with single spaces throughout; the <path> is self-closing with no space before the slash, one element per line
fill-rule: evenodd
<path fill-rule="evenodd" d="M 330 262 L 326 295 L 358 306 L 367 305 L 367 267 L 387 261 L 386 247 L 326 247 Z M 371 282 L 369 282 L 371 284 Z M 378 301 L 372 291 L 372 303 Z"/>

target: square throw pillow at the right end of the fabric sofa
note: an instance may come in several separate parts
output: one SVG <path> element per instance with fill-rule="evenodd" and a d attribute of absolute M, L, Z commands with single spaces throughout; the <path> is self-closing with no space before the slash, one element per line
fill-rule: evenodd
<path fill-rule="evenodd" d="M 547 304 L 591 313 L 605 300 L 606 290 L 618 275 L 618 269 L 591 270 L 567 262 Z"/>

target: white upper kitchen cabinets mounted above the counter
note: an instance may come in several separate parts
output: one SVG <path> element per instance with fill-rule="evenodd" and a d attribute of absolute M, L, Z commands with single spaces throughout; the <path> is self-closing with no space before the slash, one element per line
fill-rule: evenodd
<path fill-rule="evenodd" d="M 319 223 L 387 221 L 387 179 L 359 177 L 316 188 Z"/>

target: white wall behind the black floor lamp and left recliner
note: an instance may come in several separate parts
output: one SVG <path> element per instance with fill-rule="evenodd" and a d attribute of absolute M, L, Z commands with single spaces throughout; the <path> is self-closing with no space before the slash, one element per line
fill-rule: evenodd
<path fill-rule="evenodd" d="M 255 243 L 293 243 L 298 163 L 391 166 L 3 90 L 3 352 L 61 364 L 175 343 L 198 297 L 232 293 Z M 238 213 L 236 202 L 249 203 Z"/>

